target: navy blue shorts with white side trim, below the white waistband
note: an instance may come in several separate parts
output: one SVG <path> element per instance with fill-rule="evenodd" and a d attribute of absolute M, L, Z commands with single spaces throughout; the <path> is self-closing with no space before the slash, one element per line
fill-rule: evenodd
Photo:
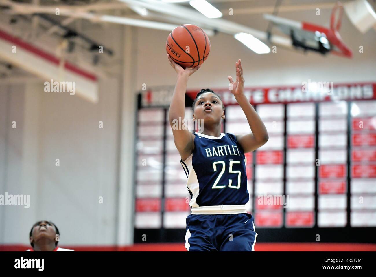
<path fill-rule="evenodd" d="M 252 214 L 190 214 L 186 224 L 187 251 L 255 251 Z"/>

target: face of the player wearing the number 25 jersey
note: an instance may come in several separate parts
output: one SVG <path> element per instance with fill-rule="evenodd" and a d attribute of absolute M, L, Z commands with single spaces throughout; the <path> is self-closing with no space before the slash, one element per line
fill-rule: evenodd
<path fill-rule="evenodd" d="M 220 122 L 224 118 L 222 101 L 212 92 L 203 93 L 194 105 L 193 118 L 203 119 L 204 124 Z"/>

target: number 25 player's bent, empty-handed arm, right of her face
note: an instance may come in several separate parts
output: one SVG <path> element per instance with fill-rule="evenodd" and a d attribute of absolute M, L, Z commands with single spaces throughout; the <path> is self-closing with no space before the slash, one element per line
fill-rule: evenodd
<path fill-rule="evenodd" d="M 228 76 L 229 81 L 232 84 L 231 92 L 246 115 L 249 127 L 252 131 L 252 133 L 246 135 L 237 135 L 236 138 L 244 152 L 247 153 L 264 145 L 268 141 L 269 136 L 264 122 L 262 122 L 260 116 L 256 113 L 255 109 L 253 109 L 247 97 L 244 95 L 243 68 L 241 67 L 240 60 L 235 64 L 235 68 L 237 80 L 233 81 L 232 77 Z"/>

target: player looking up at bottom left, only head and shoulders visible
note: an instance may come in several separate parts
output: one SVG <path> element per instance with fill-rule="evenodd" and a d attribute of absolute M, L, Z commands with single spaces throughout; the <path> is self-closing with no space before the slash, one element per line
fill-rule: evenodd
<path fill-rule="evenodd" d="M 26 251 L 74 251 L 58 247 L 59 229 L 50 221 L 36 222 L 30 230 L 30 249 Z"/>

